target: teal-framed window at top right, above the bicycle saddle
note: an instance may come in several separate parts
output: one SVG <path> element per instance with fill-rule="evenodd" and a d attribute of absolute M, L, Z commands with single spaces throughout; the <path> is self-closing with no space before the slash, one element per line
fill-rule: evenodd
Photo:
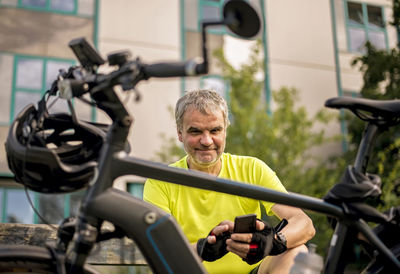
<path fill-rule="evenodd" d="M 388 48 L 382 7 L 348 1 L 345 12 L 349 51 L 362 53 L 367 41 L 377 49 Z"/>

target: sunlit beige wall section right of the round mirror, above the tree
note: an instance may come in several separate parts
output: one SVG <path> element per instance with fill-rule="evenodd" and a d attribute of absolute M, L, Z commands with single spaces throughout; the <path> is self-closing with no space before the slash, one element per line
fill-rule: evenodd
<path fill-rule="evenodd" d="M 268 1 L 266 20 L 271 88 L 295 87 L 317 111 L 337 95 L 329 1 Z"/>

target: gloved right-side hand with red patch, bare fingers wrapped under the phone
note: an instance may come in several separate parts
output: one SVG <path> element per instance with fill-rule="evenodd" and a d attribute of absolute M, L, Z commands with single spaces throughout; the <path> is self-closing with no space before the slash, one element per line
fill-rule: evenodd
<path fill-rule="evenodd" d="M 286 251 L 286 243 L 275 237 L 276 231 L 268 223 L 257 220 L 255 233 L 233 233 L 226 241 L 227 250 L 248 264 L 255 264 L 268 255 Z"/>

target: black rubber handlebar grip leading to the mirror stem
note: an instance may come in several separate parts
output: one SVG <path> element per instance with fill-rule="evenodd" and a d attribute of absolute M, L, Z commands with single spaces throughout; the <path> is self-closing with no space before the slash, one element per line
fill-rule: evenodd
<path fill-rule="evenodd" d="M 163 62 L 143 66 L 146 77 L 182 77 L 207 73 L 207 65 L 192 59 L 185 62 Z"/>

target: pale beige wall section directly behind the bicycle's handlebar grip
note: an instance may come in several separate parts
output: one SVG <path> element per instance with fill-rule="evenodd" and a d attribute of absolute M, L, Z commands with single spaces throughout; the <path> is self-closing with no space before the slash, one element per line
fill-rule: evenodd
<path fill-rule="evenodd" d="M 106 56 L 113 51 L 129 50 L 132 57 L 149 63 L 180 60 L 179 8 L 179 0 L 100 1 L 100 52 Z M 176 135 L 168 106 L 175 106 L 180 96 L 180 80 L 150 79 L 137 89 L 140 102 L 134 103 L 132 96 L 127 104 L 135 119 L 129 139 L 134 156 L 151 159 L 163 145 L 161 132 Z M 99 118 L 105 119 L 101 114 Z"/>

